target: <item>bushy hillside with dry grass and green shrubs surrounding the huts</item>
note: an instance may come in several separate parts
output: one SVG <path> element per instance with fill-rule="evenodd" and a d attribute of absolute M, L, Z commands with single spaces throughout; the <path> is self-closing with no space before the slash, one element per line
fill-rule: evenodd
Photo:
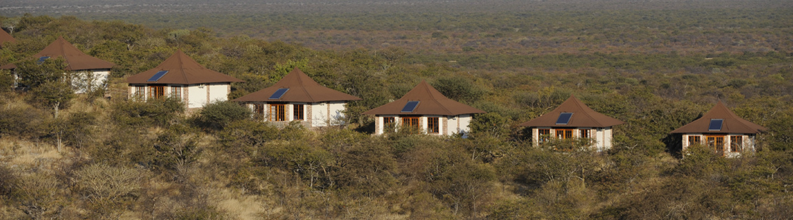
<path fill-rule="evenodd" d="M 781 219 L 793 210 L 789 51 L 449 55 L 449 62 L 401 47 L 315 51 L 205 28 L 17 19 L 17 43 L 0 49 L 0 64 L 32 62 L 25 59 L 63 36 L 118 66 L 112 98 L 61 97 L 57 117 L 45 86 L 2 90 L 0 218 Z M 125 76 L 177 49 L 245 80 L 232 85 L 232 98 L 306 66 L 322 85 L 363 100 L 348 105 L 347 126 L 308 131 L 222 117 L 247 111 L 232 103 L 186 116 L 172 100 L 125 98 Z M 54 61 L 33 68 L 54 69 Z M 488 112 L 475 116 L 471 138 L 370 135 L 372 119 L 360 113 L 421 80 Z M 10 73 L 0 82 L 9 88 Z M 614 149 L 531 146 L 516 127 L 571 94 L 626 122 L 615 127 Z M 718 100 L 768 127 L 759 151 L 726 159 L 692 147 L 680 159 L 680 139 L 668 132 Z"/>

